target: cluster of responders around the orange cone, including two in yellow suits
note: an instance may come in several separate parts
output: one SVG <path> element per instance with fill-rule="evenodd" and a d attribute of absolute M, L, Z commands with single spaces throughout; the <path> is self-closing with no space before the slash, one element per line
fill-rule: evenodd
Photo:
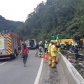
<path fill-rule="evenodd" d="M 50 43 L 45 41 L 44 44 L 42 42 L 39 42 L 35 56 L 38 55 L 38 57 L 43 57 L 44 53 L 46 53 L 48 55 L 49 66 L 55 68 L 56 67 L 55 65 L 57 63 L 56 56 L 58 52 L 56 45 L 57 45 L 56 40 L 51 40 Z"/>

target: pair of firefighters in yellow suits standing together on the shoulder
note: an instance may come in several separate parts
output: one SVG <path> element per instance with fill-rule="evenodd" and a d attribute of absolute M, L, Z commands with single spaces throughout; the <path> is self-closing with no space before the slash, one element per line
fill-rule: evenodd
<path fill-rule="evenodd" d="M 49 56 L 49 66 L 52 68 L 56 67 L 57 63 L 57 48 L 56 48 L 57 42 L 55 40 L 51 40 L 48 46 L 48 56 Z"/>

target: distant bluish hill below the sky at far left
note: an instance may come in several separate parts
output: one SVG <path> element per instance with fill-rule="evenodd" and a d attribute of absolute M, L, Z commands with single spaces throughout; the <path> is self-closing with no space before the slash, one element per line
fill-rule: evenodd
<path fill-rule="evenodd" d="M 14 32 L 17 27 L 23 25 L 23 22 L 6 20 L 0 15 L 0 32 Z"/>

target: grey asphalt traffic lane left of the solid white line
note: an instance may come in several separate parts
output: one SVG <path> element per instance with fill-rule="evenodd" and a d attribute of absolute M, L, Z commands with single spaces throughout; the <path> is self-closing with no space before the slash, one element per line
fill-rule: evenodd
<path fill-rule="evenodd" d="M 0 62 L 0 84 L 34 84 L 41 58 L 35 57 L 35 50 L 29 52 L 27 66 L 21 56 L 14 60 Z"/>

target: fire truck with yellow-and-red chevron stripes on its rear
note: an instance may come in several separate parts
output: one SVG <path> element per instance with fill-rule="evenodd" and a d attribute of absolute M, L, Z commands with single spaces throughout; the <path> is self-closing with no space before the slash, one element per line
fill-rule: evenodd
<path fill-rule="evenodd" d="M 0 59 L 16 58 L 20 47 L 20 37 L 17 34 L 0 34 Z"/>

